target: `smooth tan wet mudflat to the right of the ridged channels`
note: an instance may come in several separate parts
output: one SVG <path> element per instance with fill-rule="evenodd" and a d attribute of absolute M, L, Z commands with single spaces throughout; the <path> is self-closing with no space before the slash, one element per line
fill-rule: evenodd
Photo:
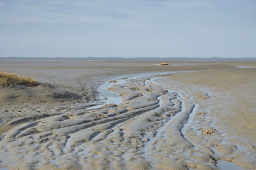
<path fill-rule="evenodd" d="M 177 74 L 162 80 L 199 105 L 188 137 L 198 150 L 211 151 L 217 162 L 255 168 L 255 73 L 256 68 L 237 68 Z M 200 136 L 202 133 L 206 135 Z"/>

